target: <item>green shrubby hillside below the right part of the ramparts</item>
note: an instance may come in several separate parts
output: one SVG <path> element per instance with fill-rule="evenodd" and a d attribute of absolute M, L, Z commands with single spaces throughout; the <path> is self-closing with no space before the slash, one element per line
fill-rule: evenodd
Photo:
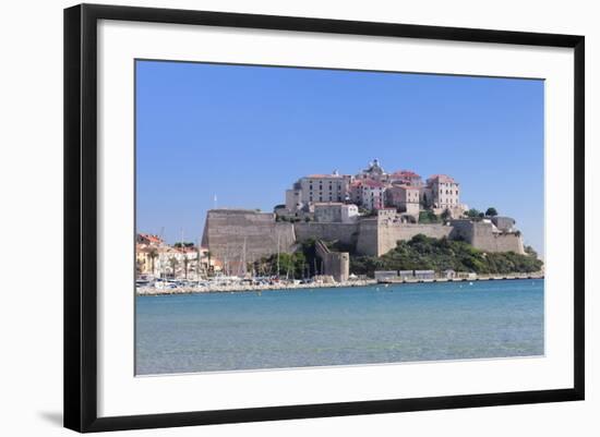
<path fill-rule="evenodd" d="M 452 269 L 476 274 L 511 274 L 539 271 L 543 263 L 535 253 L 485 253 L 464 241 L 433 239 L 423 234 L 410 241 L 398 241 L 397 246 L 381 257 L 350 256 L 350 271 L 373 276 L 375 270 L 435 270 Z"/>

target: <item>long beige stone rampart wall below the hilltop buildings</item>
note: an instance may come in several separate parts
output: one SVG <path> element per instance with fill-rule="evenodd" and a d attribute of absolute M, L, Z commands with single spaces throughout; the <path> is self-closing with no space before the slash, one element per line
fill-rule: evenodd
<path fill-rule="evenodd" d="M 394 222 L 381 218 L 363 218 L 355 223 L 281 222 L 271 213 L 249 209 L 213 209 L 206 216 L 202 245 L 221 259 L 240 257 L 248 262 L 280 252 L 292 252 L 297 243 L 308 239 L 339 241 L 356 246 L 363 255 L 381 256 L 422 233 L 427 236 L 464 240 L 485 252 L 524 254 L 518 233 L 494 232 L 487 221 L 451 220 L 449 224 Z"/>

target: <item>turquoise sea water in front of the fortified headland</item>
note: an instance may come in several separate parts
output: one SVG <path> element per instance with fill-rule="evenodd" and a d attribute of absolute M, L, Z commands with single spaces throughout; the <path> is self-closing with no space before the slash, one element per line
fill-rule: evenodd
<path fill-rule="evenodd" d="M 543 280 L 136 298 L 136 374 L 542 355 Z"/>

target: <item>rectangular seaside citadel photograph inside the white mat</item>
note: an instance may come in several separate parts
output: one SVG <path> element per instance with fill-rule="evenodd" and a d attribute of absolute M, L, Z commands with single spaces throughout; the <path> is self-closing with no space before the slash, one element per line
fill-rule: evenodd
<path fill-rule="evenodd" d="M 543 78 L 134 75 L 136 376 L 544 355 Z"/>

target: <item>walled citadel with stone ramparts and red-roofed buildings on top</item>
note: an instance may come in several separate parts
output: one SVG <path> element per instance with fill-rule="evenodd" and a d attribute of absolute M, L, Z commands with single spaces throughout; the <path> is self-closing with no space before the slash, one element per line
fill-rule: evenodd
<path fill-rule="evenodd" d="M 484 252 L 525 254 L 515 220 L 467 217 L 460 193 L 459 183 L 449 175 L 434 174 L 423 182 L 412 171 L 388 173 L 375 159 L 355 175 L 334 171 L 300 178 L 273 213 L 211 209 L 202 245 L 219 259 L 239 263 L 293 252 L 309 239 L 336 241 L 357 254 L 381 256 L 398 241 L 424 234 L 464 240 Z M 348 253 L 331 253 L 324 244 L 316 250 L 334 275 L 347 271 Z"/>

